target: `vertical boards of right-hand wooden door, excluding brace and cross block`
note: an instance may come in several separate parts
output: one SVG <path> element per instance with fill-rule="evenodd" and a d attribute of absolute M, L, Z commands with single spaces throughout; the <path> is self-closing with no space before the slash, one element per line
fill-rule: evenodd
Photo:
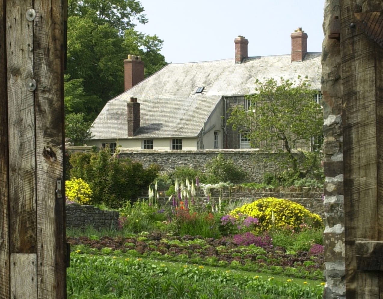
<path fill-rule="evenodd" d="M 381 165 L 377 148 L 380 107 L 376 91 L 377 45 L 358 27 L 354 13 L 376 10 L 381 1 L 340 2 L 340 48 L 344 132 L 344 205 L 346 251 L 346 297 L 379 298 L 379 274 L 357 270 L 355 241 L 378 240 L 378 180 Z M 383 298 L 383 296 L 382 296 Z"/>

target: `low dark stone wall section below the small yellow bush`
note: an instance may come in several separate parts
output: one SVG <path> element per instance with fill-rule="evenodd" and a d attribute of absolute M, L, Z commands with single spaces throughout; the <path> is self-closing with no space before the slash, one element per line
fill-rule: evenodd
<path fill-rule="evenodd" d="M 119 212 L 100 210 L 93 205 L 69 204 L 65 207 L 68 228 L 85 228 L 87 225 L 100 230 L 118 228 Z"/>

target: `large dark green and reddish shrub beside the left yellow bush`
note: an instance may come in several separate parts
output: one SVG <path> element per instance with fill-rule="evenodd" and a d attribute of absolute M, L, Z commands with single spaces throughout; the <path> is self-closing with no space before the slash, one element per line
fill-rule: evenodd
<path fill-rule="evenodd" d="M 136 200 L 142 189 L 157 177 L 159 166 L 147 169 L 128 158 L 110 156 L 108 148 L 97 153 L 74 153 L 70 157 L 71 177 L 81 177 L 93 191 L 92 202 L 108 207 L 121 207 L 127 200 Z"/>

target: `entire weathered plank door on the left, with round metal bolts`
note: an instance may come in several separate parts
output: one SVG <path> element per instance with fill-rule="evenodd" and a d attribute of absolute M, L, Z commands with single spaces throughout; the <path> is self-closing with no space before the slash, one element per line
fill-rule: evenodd
<path fill-rule="evenodd" d="M 0 299 L 66 298 L 66 0 L 0 0 Z"/>

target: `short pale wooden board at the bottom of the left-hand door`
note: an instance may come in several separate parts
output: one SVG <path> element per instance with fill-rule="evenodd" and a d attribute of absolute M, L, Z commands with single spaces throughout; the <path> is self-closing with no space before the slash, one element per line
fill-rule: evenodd
<path fill-rule="evenodd" d="M 36 253 L 11 253 L 11 297 L 37 298 Z"/>

